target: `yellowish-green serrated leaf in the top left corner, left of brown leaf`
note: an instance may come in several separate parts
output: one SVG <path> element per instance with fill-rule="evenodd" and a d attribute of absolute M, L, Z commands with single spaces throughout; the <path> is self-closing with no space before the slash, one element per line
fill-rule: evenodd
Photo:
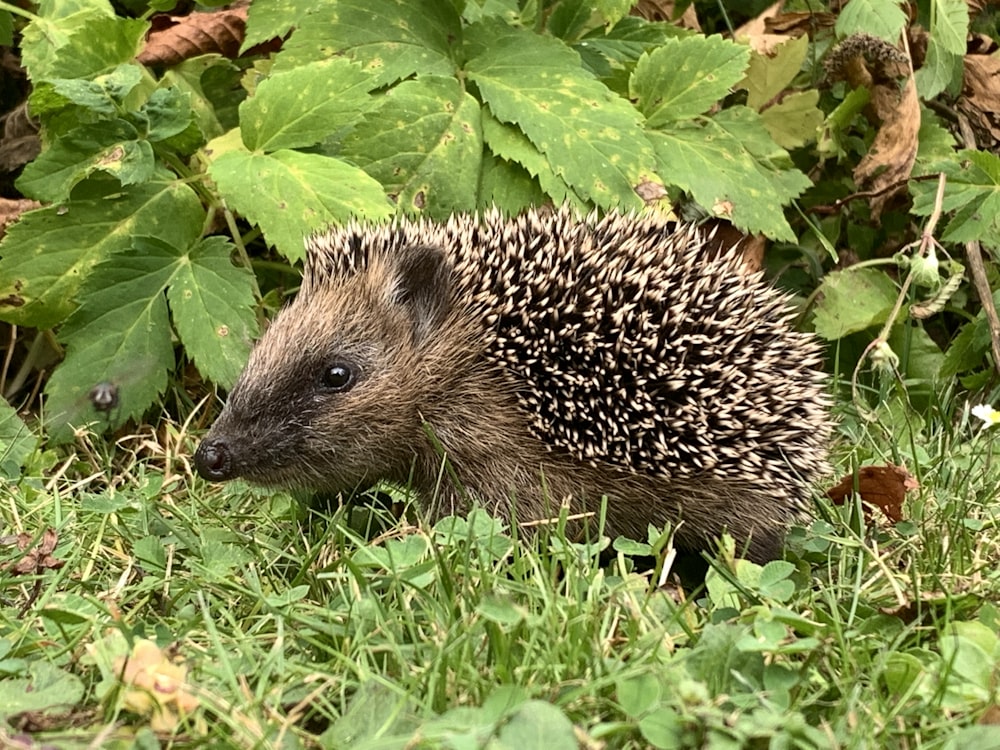
<path fill-rule="evenodd" d="M 100 11 L 58 23 L 36 17 L 25 28 L 23 63 L 34 81 L 93 78 L 132 61 L 148 28 L 146 21 Z"/>

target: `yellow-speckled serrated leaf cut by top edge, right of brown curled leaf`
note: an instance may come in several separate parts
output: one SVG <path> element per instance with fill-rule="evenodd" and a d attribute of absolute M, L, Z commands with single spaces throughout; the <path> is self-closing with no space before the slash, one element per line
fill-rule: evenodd
<path fill-rule="evenodd" d="M 447 2 L 340 0 L 301 19 L 274 70 L 344 56 L 361 63 L 378 88 L 414 73 L 453 74 L 452 48 L 461 39 L 461 21 Z"/>

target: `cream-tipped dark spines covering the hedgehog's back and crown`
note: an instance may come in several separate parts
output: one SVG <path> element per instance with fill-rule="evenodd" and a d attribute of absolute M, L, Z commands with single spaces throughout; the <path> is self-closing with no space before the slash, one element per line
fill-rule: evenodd
<path fill-rule="evenodd" d="M 763 483 L 794 503 L 804 493 L 791 477 L 823 466 L 820 349 L 791 330 L 782 293 L 735 253 L 708 258 L 706 240 L 658 217 L 568 207 L 352 222 L 309 240 L 303 291 L 373 254 L 440 246 L 483 356 L 546 445 L 633 472 Z"/>

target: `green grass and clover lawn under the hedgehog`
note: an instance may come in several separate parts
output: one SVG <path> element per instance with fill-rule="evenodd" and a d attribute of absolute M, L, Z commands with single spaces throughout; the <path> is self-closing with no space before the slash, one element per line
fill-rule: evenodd
<path fill-rule="evenodd" d="M 1000 747 L 1000 450 L 975 421 L 845 417 L 841 473 L 917 476 L 905 520 L 820 501 L 786 560 L 723 551 L 685 588 L 649 570 L 662 530 L 318 511 L 193 478 L 171 424 L 38 453 L 0 486 L 0 746 Z M 47 528 L 55 560 L 26 558 L 14 535 Z"/>

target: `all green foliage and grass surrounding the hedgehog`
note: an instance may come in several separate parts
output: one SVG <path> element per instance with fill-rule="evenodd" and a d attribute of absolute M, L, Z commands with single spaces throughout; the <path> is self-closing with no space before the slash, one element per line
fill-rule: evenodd
<path fill-rule="evenodd" d="M 738 5 L 0 2 L 0 744 L 988 747 L 996 6 Z M 840 465 L 910 466 L 906 518 L 821 505 L 692 606 L 635 573 L 662 530 L 608 567 L 192 479 L 304 235 L 547 202 L 766 239 Z M 150 415 L 117 452 L 76 429 Z"/>

